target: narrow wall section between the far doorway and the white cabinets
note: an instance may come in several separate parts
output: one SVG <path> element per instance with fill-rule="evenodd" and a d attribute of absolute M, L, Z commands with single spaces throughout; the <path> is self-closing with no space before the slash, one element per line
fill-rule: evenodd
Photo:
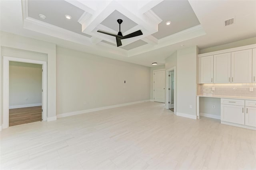
<path fill-rule="evenodd" d="M 177 51 L 177 112 L 193 117 L 196 116 L 196 61 L 196 46 Z"/>

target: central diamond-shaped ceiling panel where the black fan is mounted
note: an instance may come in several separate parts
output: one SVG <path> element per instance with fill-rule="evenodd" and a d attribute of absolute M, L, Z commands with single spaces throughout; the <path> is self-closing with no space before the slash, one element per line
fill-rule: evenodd
<path fill-rule="evenodd" d="M 130 30 L 134 26 L 138 25 L 117 10 L 114 10 L 105 20 L 101 22 L 102 25 L 111 28 L 112 30 L 119 31 L 119 24 L 117 23 L 118 19 L 122 19 L 121 32 L 124 33 L 127 30 Z"/>

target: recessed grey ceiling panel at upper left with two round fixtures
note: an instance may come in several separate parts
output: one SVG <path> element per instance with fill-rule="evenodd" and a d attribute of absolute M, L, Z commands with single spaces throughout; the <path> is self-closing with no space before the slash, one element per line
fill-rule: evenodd
<path fill-rule="evenodd" d="M 64 0 L 28 0 L 29 17 L 91 37 L 88 34 L 82 33 L 81 24 L 78 22 L 83 13 L 83 10 Z M 38 16 L 39 14 L 46 16 L 46 19 L 42 20 Z M 68 20 L 65 17 L 66 14 L 72 18 Z"/>

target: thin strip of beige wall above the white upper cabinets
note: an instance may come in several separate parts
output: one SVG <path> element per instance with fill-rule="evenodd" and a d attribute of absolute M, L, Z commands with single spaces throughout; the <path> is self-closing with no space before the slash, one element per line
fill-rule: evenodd
<path fill-rule="evenodd" d="M 203 54 L 203 53 L 206 53 L 206 52 L 218 51 L 218 50 L 224 50 L 224 49 L 228 49 L 228 48 L 246 46 L 246 45 L 250 45 L 250 44 L 256 44 L 256 37 L 248 38 L 248 39 L 244 39 L 244 40 L 240 40 L 240 41 L 236 41 L 236 42 L 231 42 L 231 43 L 228 43 L 228 44 L 222 44 L 222 45 L 219 45 L 219 46 L 213 46 L 213 47 L 210 47 L 210 48 L 200 49 L 199 54 Z"/>

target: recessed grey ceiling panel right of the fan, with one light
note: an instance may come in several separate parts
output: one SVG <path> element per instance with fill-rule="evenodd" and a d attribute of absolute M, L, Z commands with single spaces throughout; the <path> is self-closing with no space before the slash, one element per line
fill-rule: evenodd
<path fill-rule="evenodd" d="M 165 0 L 152 8 L 163 21 L 158 25 L 158 32 L 152 34 L 157 39 L 175 34 L 200 24 L 187 0 Z M 170 25 L 166 25 L 171 21 Z"/>

